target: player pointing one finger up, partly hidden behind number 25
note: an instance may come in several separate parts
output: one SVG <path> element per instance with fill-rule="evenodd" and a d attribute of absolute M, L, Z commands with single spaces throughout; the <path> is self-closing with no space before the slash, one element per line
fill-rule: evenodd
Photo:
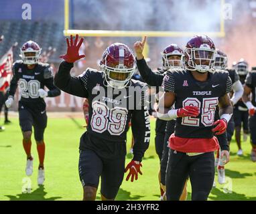
<path fill-rule="evenodd" d="M 136 59 L 137 59 L 137 68 L 141 74 L 141 77 L 149 86 L 157 87 L 156 98 L 159 100 L 159 96 L 162 95 L 162 82 L 164 79 L 164 74 L 169 69 L 182 68 L 182 56 L 183 50 L 176 44 L 168 45 L 163 53 L 163 68 L 159 69 L 157 72 L 152 72 L 151 69 L 147 66 L 146 61 L 143 57 L 143 47 L 145 45 L 146 37 L 143 38 L 143 41 L 136 41 L 134 44 Z M 159 173 L 159 183 L 161 191 L 161 200 L 164 199 L 166 191 L 166 167 L 168 162 L 168 139 L 170 135 L 174 132 L 175 120 L 170 120 L 167 122 L 165 120 L 160 120 L 157 118 L 155 124 L 155 148 L 157 154 L 161 160 L 160 173 Z M 186 185 L 184 185 L 184 191 L 180 200 L 186 200 Z"/>

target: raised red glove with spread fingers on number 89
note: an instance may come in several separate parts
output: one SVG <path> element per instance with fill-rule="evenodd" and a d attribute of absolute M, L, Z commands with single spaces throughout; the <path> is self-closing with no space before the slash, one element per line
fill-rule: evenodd
<path fill-rule="evenodd" d="M 78 41 L 78 34 L 76 34 L 76 39 L 74 39 L 73 43 L 73 36 L 70 35 L 70 43 L 68 38 L 66 38 L 66 43 L 68 45 L 68 49 L 66 51 L 65 55 L 60 56 L 60 58 L 64 59 L 66 62 L 76 62 L 76 60 L 80 60 L 81 58 L 84 58 L 85 55 L 79 55 L 79 48 L 82 45 L 82 41 L 84 41 L 83 38 L 80 39 L 79 43 Z"/>

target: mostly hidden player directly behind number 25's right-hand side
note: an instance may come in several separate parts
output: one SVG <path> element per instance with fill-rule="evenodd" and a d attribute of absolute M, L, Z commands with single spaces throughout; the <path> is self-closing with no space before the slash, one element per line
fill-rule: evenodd
<path fill-rule="evenodd" d="M 241 84 L 239 80 L 239 74 L 237 74 L 237 71 L 235 69 L 227 69 L 227 55 L 220 51 L 219 49 L 217 50 L 216 54 L 216 60 L 214 63 L 214 69 L 215 70 L 227 70 L 229 72 L 229 77 L 231 78 L 232 81 L 232 97 L 231 97 L 231 103 L 233 106 L 239 102 L 239 100 L 243 96 L 243 85 Z M 235 114 L 235 110 L 233 115 Z M 218 116 L 218 114 L 216 114 Z M 219 119 L 219 118 L 218 118 Z M 230 145 L 231 138 L 233 136 L 235 129 L 235 122 L 233 119 L 233 116 L 231 117 L 231 120 L 229 120 L 229 124 L 227 126 L 227 136 L 225 134 L 220 134 L 217 136 L 218 142 L 221 142 L 222 140 L 227 140 L 228 144 Z M 219 165 L 220 163 L 220 158 L 219 158 L 220 150 L 217 151 L 217 156 L 215 159 L 215 166 L 217 167 L 217 172 L 218 172 L 218 183 L 223 184 L 225 183 L 225 167 L 224 165 Z"/>

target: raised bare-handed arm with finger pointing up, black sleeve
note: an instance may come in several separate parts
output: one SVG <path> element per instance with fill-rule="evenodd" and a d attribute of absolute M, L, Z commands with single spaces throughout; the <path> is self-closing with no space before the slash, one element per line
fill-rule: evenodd
<path fill-rule="evenodd" d="M 156 74 L 152 72 L 152 70 L 147 66 L 147 62 L 145 62 L 142 54 L 146 38 L 147 37 L 144 37 L 143 41 L 136 41 L 134 43 L 137 68 L 139 70 L 139 74 L 141 74 L 142 79 L 149 86 L 161 86 L 164 76 L 162 74 Z"/>

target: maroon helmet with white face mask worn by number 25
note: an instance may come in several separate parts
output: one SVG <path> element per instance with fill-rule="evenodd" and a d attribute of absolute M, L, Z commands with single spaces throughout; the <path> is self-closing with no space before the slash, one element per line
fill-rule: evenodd
<path fill-rule="evenodd" d="M 187 70 L 208 72 L 214 68 L 215 58 L 215 45 L 207 35 L 195 35 L 186 44 L 184 66 Z"/>

